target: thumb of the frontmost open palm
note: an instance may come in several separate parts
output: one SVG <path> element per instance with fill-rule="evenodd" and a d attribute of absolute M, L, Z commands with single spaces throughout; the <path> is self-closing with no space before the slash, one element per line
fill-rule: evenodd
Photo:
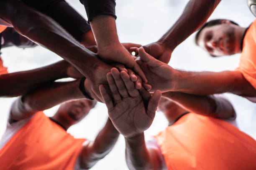
<path fill-rule="evenodd" d="M 153 118 L 155 116 L 160 98 L 161 98 L 161 91 L 156 90 L 148 102 L 147 114 L 149 117 Z"/>

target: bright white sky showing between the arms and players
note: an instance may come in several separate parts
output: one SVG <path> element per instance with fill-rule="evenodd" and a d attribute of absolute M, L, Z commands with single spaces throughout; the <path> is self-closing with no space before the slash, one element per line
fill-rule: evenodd
<path fill-rule="evenodd" d="M 81 15 L 86 18 L 84 7 L 79 0 L 67 0 Z M 188 0 L 116 0 L 117 28 L 121 42 L 134 42 L 142 45 L 158 40 L 178 19 Z M 236 21 L 242 27 L 248 27 L 255 17 L 247 7 L 246 0 L 223 0 L 220 2 L 210 19 L 227 18 Z M 194 44 L 194 36 L 190 36 L 173 52 L 169 65 L 182 70 L 193 71 L 223 71 L 238 67 L 239 56 L 233 55 L 211 58 Z M 43 47 L 19 49 L 9 47 L 2 50 L 4 65 L 9 72 L 29 70 L 51 64 L 61 57 Z M 19 82 L 17 82 L 19 83 Z M 256 139 L 256 104 L 236 95 L 225 94 L 232 102 L 237 112 L 240 129 Z M 5 131 L 6 120 L 11 103 L 15 98 L 0 98 L 0 136 Z M 57 107 L 45 111 L 51 116 Z M 90 114 L 79 124 L 69 128 L 68 132 L 77 138 L 93 140 L 107 120 L 107 109 L 98 103 Z M 146 131 L 146 137 L 156 135 L 164 129 L 167 121 L 161 112 L 156 113 L 151 128 Z M 126 170 L 125 143 L 120 136 L 115 148 L 92 170 Z"/>

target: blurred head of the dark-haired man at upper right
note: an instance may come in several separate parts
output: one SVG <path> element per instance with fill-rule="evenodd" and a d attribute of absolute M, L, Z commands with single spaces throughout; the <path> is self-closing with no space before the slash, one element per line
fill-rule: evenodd
<path fill-rule="evenodd" d="M 195 43 L 212 57 L 236 54 L 241 52 L 238 28 L 240 26 L 231 20 L 210 20 L 198 30 Z"/>

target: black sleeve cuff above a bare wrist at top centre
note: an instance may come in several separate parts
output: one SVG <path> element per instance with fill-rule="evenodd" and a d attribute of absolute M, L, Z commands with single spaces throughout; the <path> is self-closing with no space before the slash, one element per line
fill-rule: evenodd
<path fill-rule="evenodd" d="M 115 0 L 80 0 L 87 13 L 88 23 L 97 15 L 111 15 L 116 19 Z"/>

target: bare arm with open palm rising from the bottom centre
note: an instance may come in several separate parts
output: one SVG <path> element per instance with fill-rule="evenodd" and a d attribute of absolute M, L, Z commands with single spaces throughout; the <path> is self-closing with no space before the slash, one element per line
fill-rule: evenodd
<path fill-rule="evenodd" d="M 130 169 L 159 169 L 159 158 L 154 150 L 146 148 L 144 130 L 151 125 L 161 92 L 151 94 L 144 90 L 136 90 L 129 75 L 117 69 L 107 74 L 108 84 L 114 102 L 100 85 L 100 92 L 108 107 L 108 115 L 115 128 L 125 137 L 126 163 Z M 141 121 L 143 120 L 143 121 Z"/>

